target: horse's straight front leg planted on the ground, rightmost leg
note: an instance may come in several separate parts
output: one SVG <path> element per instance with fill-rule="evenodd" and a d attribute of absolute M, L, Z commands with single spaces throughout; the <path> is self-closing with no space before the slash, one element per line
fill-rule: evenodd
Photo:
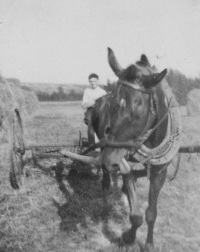
<path fill-rule="evenodd" d="M 167 166 L 162 169 L 155 168 L 157 171 L 154 171 L 154 167 L 151 168 L 152 172 L 150 174 L 150 188 L 149 188 L 149 205 L 146 209 L 146 222 L 148 225 L 148 234 L 145 245 L 146 252 L 153 252 L 153 229 L 157 217 L 157 199 L 159 192 L 165 182 L 167 174 Z"/>

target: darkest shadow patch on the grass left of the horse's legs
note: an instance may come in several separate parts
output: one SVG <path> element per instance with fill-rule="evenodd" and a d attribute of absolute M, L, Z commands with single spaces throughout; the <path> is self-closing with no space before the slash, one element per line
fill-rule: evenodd
<path fill-rule="evenodd" d="M 77 163 L 71 165 L 67 175 L 62 174 L 62 168 L 56 170 L 59 188 L 66 198 L 66 203 L 59 205 L 58 214 L 61 218 L 62 231 L 75 231 L 77 226 L 87 227 L 88 220 L 97 223 L 103 210 L 103 197 L 100 177 L 84 169 Z"/>

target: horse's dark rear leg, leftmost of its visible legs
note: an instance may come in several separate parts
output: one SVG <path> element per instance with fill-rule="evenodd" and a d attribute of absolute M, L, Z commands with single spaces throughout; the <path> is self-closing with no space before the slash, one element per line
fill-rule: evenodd
<path fill-rule="evenodd" d="M 109 189 L 110 189 L 110 174 L 106 170 L 105 167 L 103 167 L 103 178 L 102 178 L 102 191 L 103 191 L 103 200 L 104 200 L 104 209 L 102 212 L 102 215 L 108 214 L 108 196 L 109 196 Z"/>

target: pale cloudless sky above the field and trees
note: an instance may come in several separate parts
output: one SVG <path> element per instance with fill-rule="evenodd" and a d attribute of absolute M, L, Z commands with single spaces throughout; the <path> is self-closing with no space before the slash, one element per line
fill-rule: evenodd
<path fill-rule="evenodd" d="M 145 53 L 152 65 L 200 77 L 199 0 L 0 0 L 0 72 L 21 82 L 116 80 Z"/>

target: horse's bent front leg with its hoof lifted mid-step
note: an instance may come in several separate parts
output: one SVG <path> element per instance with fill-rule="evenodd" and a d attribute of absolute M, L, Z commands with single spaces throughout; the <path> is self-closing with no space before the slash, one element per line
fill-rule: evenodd
<path fill-rule="evenodd" d="M 136 179 L 132 172 L 123 174 L 123 187 L 122 191 L 127 195 L 130 206 L 130 222 L 132 227 L 130 230 L 123 233 L 123 241 L 127 244 L 131 244 L 135 241 L 136 231 L 139 226 L 142 225 L 143 218 L 139 209 L 139 203 L 136 193 Z"/>

